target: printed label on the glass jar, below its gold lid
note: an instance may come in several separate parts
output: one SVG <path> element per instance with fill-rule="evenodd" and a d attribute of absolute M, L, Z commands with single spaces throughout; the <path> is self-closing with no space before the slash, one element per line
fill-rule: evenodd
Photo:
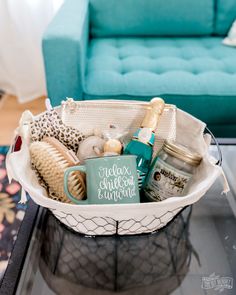
<path fill-rule="evenodd" d="M 158 158 L 148 175 L 145 194 L 154 201 L 181 196 L 191 177 L 190 173 L 178 170 Z"/>

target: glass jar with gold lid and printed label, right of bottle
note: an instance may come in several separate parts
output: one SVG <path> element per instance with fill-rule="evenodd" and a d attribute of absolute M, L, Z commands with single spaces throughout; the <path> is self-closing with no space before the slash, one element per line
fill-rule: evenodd
<path fill-rule="evenodd" d="M 149 201 L 184 195 L 201 156 L 180 144 L 166 141 L 148 173 L 144 193 Z"/>

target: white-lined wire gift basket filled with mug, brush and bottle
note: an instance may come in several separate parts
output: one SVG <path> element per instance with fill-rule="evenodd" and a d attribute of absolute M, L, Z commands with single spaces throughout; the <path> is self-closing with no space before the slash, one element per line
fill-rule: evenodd
<path fill-rule="evenodd" d="M 15 134 L 18 142 L 20 138 L 21 146 L 17 151 L 12 147 L 7 156 L 9 179 L 14 178 L 22 185 L 22 201 L 25 201 L 26 191 L 62 223 L 86 235 L 132 235 L 157 231 L 181 209 L 197 202 L 218 176 L 224 179 L 224 192 L 227 192 L 222 167 L 209 154 L 211 136 L 204 134 L 205 123 L 174 105 L 165 104 L 156 130 L 150 132 L 151 128 L 142 128 L 137 133 L 145 120 L 145 126 L 153 125 L 154 117 L 149 116 L 147 120 L 145 115 L 148 112 L 149 115 L 155 113 L 148 102 L 73 99 L 62 101 L 55 108 L 47 104 L 47 110 L 37 116 L 25 111 Z M 173 168 L 173 175 L 162 169 L 163 166 L 159 167 L 163 171 L 155 170 L 155 180 L 159 181 L 161 177 L 162 181 L 168 180 L 168 183 L 159 181 L 163 187 L 159 190 L 161 194 L 158 196 L 162 198 L 158 202 L 139 201 L 144 170 L 139 171 L 136 179 L 135 157 L 132 151 L 127 152 L 132 140 L 131 149 L 135 147 L 138 153 L 145 153 L 145 157 L 152 156 L 153 171 L 157 169 L 155 165 L 163 165 L 163 161 L 167 161 L 166 154 L 157 157 L 163 147 L 172 155 L 168 157 L 172 162 L 168 162 L 166 167 L 170 163 L 178 164 L 174 158 L 176 153 L 187 163 L 181 177 L 176 177 L 179 168 Z M 147 150 L 143 152 L 141 145 L 137 148 L 137 142 L 145 142 Z M 185 153 L 183 158 L 179 147 L 172 150 L 175 147 L 173 142 L 195 151 L 197 156 Z M 126 155 L 120 155 L 122 149 Z M 192 174 L 187 169 L 189 163 L 196 166 Z M 190 175 L 191 185 L 185 190 Z M 148 177 L 153 182 L 154 178 Z M 120 181 L 123 187 L 118 192 L 115 188 L 121 187 Z M 149 195 L 154 187 L 152 184 L 146 190 Z M 105 188 L 109 188 L 109 193 Z M 168 198 L 163 198 L 165 188 Z M 172 188 L 174 190 L 170 193 Z M 86 191 L 87 199 L 82 200 Z"/>

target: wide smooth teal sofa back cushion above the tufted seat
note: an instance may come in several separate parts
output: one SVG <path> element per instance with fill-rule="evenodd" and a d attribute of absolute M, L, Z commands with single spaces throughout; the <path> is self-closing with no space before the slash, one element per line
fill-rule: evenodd
<path fill-rule="evenodd" d="M 93 36 L 207 35 L 215 0 L 90 0 Z"/>

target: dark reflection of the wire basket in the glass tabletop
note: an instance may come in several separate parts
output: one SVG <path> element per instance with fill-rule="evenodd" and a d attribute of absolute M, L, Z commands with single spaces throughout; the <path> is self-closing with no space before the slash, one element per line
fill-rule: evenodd
<path fill-rule="evenodd" d="M 67 288 L 70 294 L 78 294 L 78 290 L 86 293 L 87 288 L 90 292 L 129 290 L 129 294 L 143 294 L 145 290 L 145 294 L 157 294 L 158 290 L 158 294 L 169 294 L 188 271 L 192 253 L 190 216 L 188 206 L 158 233 L 86 237 L 48 214 L 41 252 L 42 274 L 59 294 Z"/>

